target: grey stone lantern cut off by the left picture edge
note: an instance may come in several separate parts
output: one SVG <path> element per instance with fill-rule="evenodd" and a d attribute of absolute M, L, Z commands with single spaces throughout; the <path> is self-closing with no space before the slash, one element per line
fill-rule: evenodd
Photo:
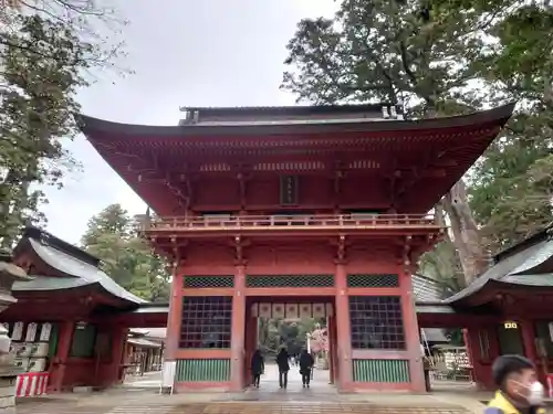
<path fill-rule="evenodd" d="M 27 273 L 11 261 L 11 255 L 0 251 L 0 312 L 14 304 L 11 295 L 14 282 L 30 280 Z M 21 370 L 14 364 L 14 355 L 10 352 L 11 339 L 8 329 L 0 323 L 0 414 L 8 413 L 15 405 L 15 379 Z"/>

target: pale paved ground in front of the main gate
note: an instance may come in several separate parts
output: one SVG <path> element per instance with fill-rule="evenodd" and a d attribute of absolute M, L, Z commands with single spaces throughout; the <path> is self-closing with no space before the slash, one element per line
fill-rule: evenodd
<path fill-rule="evenodd" d="M 466 414 L 482 405 L 465 393 L 413 395 L 403 393 L 338 394 L 327 371 L 315 371 L 311 389 L 303 389 L 298 368 L 289 373 L 286 390 L 278 371 L 268 365 L 261 388 L 243 393 L 181 393 L 159 395 L 155 374 L 125 388 L 102 393 L 61 394 L 28 400 L 19 414 Z M 145 375 L 146 376 L 146 375 Z M 139 386 L 142 382 L 142 386 Z"/>

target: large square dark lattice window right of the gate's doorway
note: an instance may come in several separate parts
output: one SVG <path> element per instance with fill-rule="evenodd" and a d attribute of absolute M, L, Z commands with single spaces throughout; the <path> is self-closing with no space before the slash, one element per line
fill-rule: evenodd
<path fill-rule="evenodd" d="M 353 349 L 405 349 L 401 299 L 398 296 L 351 296 Z"/>

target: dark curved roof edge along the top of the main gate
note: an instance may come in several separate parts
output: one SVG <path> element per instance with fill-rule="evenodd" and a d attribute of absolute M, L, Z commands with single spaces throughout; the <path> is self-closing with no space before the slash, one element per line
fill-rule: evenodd
<path fill-rule="evenodd" d="M 200 136 L 260 136 L 295 134 L 331 134 L 331 132 L 363 132 L 363 131 L 416 131 L 442 128 L 462 128 L 477 125 L 503 125 L 511 117 L 514 103 L 493 109 L 482 110 L 469 115 L 452 117 L 418 119 L 418 120 L 377 120 L 367 119 L 309 119 L 282 121 L 243 121 L 184 125 L 184 126 L 148 126 L 121 124 L 79 114 L 75 116 L 81 130 L 85 135 L 118 135 L 127 137 L 150 138 L 185 138 Z"/>

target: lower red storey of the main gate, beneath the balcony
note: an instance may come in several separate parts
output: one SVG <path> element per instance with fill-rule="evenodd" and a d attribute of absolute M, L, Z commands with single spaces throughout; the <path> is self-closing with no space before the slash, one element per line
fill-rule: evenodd
<path fill-rule="evenodd" d="M 418 226 L 424 232 L 440 231 L 429 221 Z M 265 229 L 265 234 L 270 230 Z M 374 238 L 372 243 L 385 245 L 386 241 Z M 357 250 L 349 250 L 348 261 L 341 263 L 332 252 L 346 251 L 346 237 L 338 237 L 336 246 L 325 238 L 319 243 L 288 240 L 252 246 L 248 264 L 232 267 L 227 265 L 232 257 L 222 256 L 225 248 L 221 246 L 217 254 L 211 246 L 211 268 L 221 274 L 207 276 L 198 275 L 190 263 L 195 256 L 190 255 L 187 273 L 191 275 L 177 275 L 174 282 L 185 288 L 174 301 L 180 309 L 171 309 L 170 315 L 180 318 L 170 322 L 168 336 L 177 336 L 180 341 L 166 354 L 178 361 L 178 388 L 241 390 L 250 378 L 244 367 L 258 346 L 257 317 L 265 312 L 262 304 L 271 304 L 272 312 L 281 305 L 284 315 L 290 305 L 298 305 L 299 312 L 302 304 L 311 305 L 303 310 L 310 317 L 314 315 L 313 305 L 322 304 L 323 310 L 315 315 L 328 317 L 331 374 L 341 390 L 422 391 L 410 273 L 394 261 L 404 247 L 398 244 L 396 252 L 393 246 L 375 252 L 369 245 L 363 246 L 357 240 Z M 269 253 L 273 256 L 271 264 L 267 261 Z M 373 274 L 363 273 L 368 257 Z M 232 270 L 236 274 L 229 275 Z M 204 375 L 200 381 L 198 372 Z"/>

